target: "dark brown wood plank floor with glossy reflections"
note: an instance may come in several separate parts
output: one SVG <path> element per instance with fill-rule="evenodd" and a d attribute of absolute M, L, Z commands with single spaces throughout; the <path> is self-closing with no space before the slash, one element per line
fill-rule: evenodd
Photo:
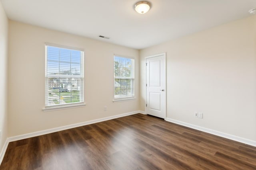
<path fill-rule="evenodd" d="M 256 147 L 136 114 L 11 142 L 0 170 L 256 170 Z"/>

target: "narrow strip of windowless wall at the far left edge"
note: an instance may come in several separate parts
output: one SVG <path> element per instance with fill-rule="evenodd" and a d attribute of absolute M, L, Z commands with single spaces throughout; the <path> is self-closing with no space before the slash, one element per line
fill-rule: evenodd
<path fill-rule="evenodd" d="M 0 151 L 8 135 L 7 117 L 8 19 L 0 2 Z"/>

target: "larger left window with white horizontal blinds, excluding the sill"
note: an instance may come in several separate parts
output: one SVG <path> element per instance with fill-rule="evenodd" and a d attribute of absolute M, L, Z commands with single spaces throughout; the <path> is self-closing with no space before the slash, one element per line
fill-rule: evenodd
<path fill-rule="evenodd" d="M 84 102 L 84 51 L 45 46 L 45 106 Z"/>

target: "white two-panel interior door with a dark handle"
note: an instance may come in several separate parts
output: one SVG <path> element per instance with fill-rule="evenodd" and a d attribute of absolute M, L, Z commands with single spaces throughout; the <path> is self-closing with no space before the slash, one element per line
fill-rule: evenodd
<path fill-rule="evenodd" d="M 146 113 L 166 117 L 165 53 L 146 58 Z"/>

